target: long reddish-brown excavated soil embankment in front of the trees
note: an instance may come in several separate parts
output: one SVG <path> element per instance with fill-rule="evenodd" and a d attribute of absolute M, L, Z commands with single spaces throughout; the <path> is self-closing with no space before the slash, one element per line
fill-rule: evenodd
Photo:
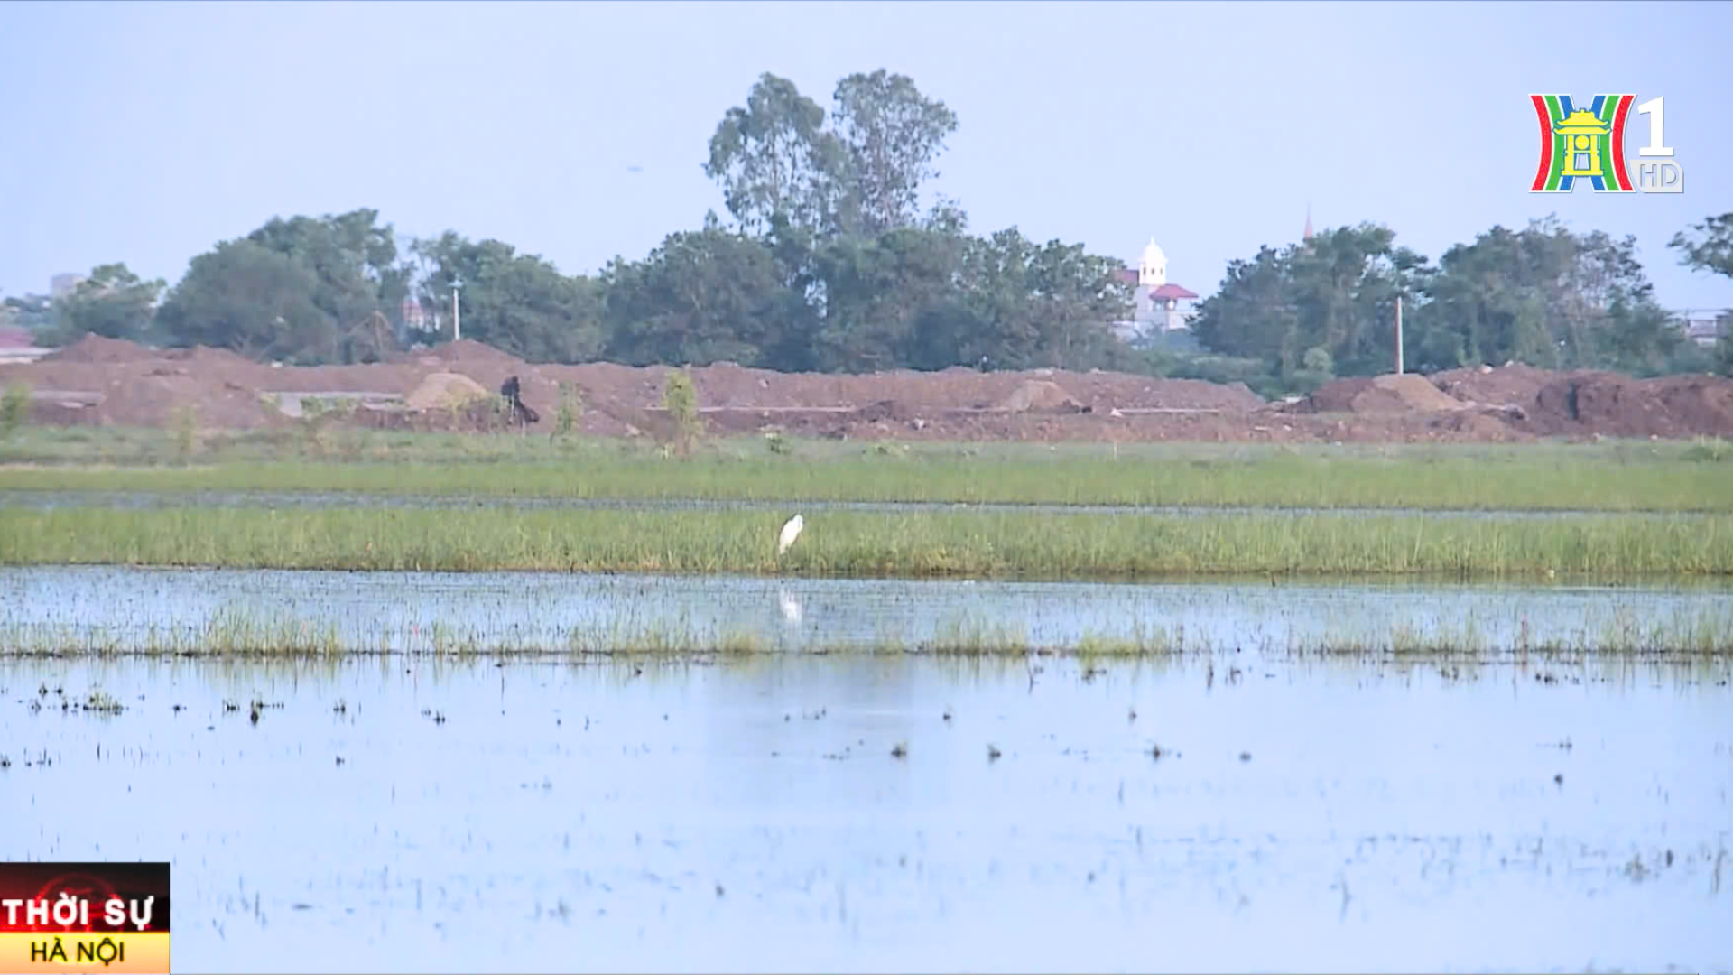
<path fill-rule="evenodd" d="M 560 387 L 568 383 L 584 399 L 586 434 L 631 435 L 667 427 L 657 408 L 669 371 L 610 363 L 529 364 L 473 340 L 402 354 L 392 363 L 274 366 L 220 349 L 158 350 L 85 337 L 36 363 L 0 364 L 0 385 L 29 383 L 36 390 L 31 416 L 40 423 L 168 427 L 182 406 L 191 406 L 201 427 L 253 429 L 281 422 L 262 402 L 262 392 L 371 392 L 402 396 L 411 406 L 444 406 L 451 394 L 485 399 L 515 375 L 523 402 L 542 416 L 555 415 Z M 1733 380 L 1632 380 L 1522 364 L 1430 378 L 1341 378 L 1293 408 L 1272 406 L 1243 383 L 1107 371 L 790 375 L 733 363 L 688 371 L 705 425 L 717 434 L 782 429 L 825 437 L 1017 441 L 1733 435 Z M 492 422 L 492 411 L 458 418 L 451 409 L 362 413 L 367 416 L 357 415 L 355 423 L 406 429 L 489 429 L 477 425 Z"/>

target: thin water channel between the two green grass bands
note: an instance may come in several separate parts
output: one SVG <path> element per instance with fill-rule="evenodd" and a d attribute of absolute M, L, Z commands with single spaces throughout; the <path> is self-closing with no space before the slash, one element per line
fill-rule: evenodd
<path fill-rule="evenodd" d="M 0 505 L 31 510 L 55 508 L 518 508 L 518 510 L 617 510 L 617 512 L 977 512 L 1042 515 L 1451 515 L 1471 519 L 1714 519 L 1704 512 L 1596 512 L 1596 510 L 1478 510 L 1478 508 L 1321 508 L 1269 505 L 1057 505 L 1009 501 L 789 501 L 789 500 L 686 500 L 686 498 L 546 498 L 385 494 L 367 491 L 38 491 L 0 489 Z"/>

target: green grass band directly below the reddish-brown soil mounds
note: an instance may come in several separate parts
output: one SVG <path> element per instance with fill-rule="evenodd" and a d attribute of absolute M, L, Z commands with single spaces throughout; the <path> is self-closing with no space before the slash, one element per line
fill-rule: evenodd
<path fill-rule="evenodd" d="M 360 435 L 357 432 L 357 435 Z M 397 435 L 402 437 L 402 435 Z M 438 437 L 416 434 L 416 437 Z M 454 444 L 470 444 L 447 435 Z M 496 441 L 504 441 L 497 444 Z M 475 498 L 787 500 L 1430 510 L 1733 512 L 1733 463 L 1702 444 L 1269 448 L 1251 444 L 723 442 L 563 453 L 489 437 L 449 453 L 381 439 L 367 461 L 199 458 L 198 467 L 0 467 L 0 489 L 293 491 Z M 544 437 L 530 437 L 541 442 Z M 444 442 L 444 441 L 442 441 Z M 511 449 L 508 449 L 511 448 Z M 173 451 L 173 448 L 165 448 Z M 492 453 L 489 453 L 492 451 Z M 0 449 L 0 456 L 7 456 Z M 35 455 L 12 451 L 10 460 Z M 170 453 L 170 456 L 178 456 Z M 88 458 L 85 458 L 88 460 Z M 59 465 L 55 465 L 59 463 Z"/>

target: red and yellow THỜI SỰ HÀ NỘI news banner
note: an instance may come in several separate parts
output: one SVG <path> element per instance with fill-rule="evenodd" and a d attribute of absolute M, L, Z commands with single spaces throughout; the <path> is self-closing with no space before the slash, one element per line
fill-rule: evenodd
<path fill-rule="evenodd" d="M 168 864 L 0 864 L 0 972 L 168 972 Z"/>

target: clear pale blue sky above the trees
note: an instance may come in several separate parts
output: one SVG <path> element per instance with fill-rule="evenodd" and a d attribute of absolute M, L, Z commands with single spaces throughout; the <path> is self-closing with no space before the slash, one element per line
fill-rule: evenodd
<path fill-rule="evenodd" d="M 378 208 L 567 272 L 726 217 L 700 170 L 761 71 L 828 108 L 889 68 L 960 118 L 936 189 L 1211 293 L 1385 222 L 1433 260 L 1556 212 L 1634 234 L 1669 307 L 1733 307 L 1674 231 L 1733 210 L 1733 3 L 0 3 L 0 293 L 170 283 L 272 215 Z M 1665 95 L 1679 196 L 1530 194 L 1530 92 Z M 1631 151 L 1646 142 L 1632 113 Z M 641 172 L 629 172 L 641 167 Z"/>

